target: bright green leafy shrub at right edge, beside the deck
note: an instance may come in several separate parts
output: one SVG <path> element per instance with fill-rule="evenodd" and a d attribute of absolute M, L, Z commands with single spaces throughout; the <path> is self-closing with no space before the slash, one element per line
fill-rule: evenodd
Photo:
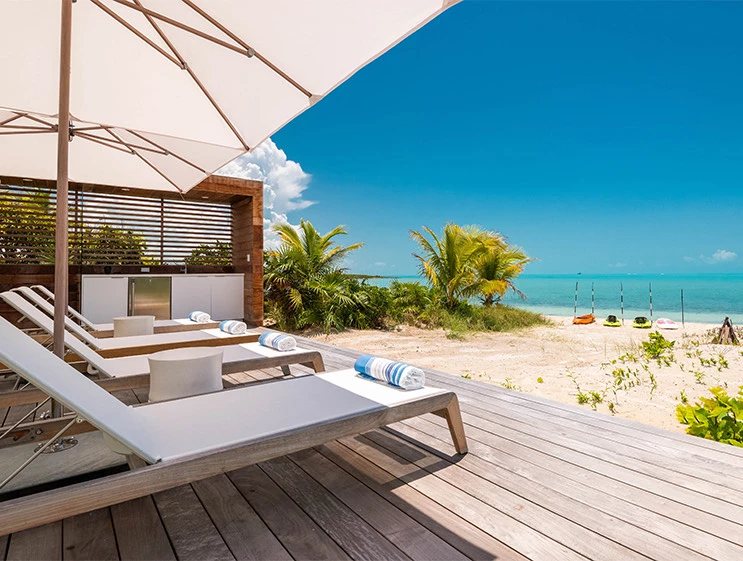
<path fill-rule="evenodd" d="M 701 397 L 694 405 L 676 406 L 679 422 L 689 425 L 686 432 L 709 440 L 743 447 L 743 386 L 738 396 L 720 388 L 710 388 L 712 397 Z"/>

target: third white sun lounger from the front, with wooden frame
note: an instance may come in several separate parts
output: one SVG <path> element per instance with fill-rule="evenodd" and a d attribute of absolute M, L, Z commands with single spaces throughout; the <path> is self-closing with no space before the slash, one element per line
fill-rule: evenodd
<path fill-rule="evenodd" d="M 25 316 L 39 329 L 52 335 L 53 322 L 49 315 L 40 308 L 29 302 L 18 292 L 9 290 L 1 292 L 0 298 L 10 304 L 17 312 Z M 46 303 L 49 306 L 49 303 Z M 50 327 L 51 326 L 51 327 Z M 118 337 L 111 339 L 98 339 L 88 331 L 76 324 L 70 318 L 65 317 L 65 328 L 68 332 L 84 341 L 88 346 L 97 351 L 109 351 L 105 356 L 126 356 L 131 354 L 152 353 L 166 348 L 176 347 L 204 347 L 232 345 L 237 343 L 253 343 L 258 340 L 258 333 L 246 333 L 245 335 L 232 335 L 220 329 L 203 329 L 200 331 L 183 331 L 177 333 L 159 333 L 156 335 L 136 335 L 133 337 Z"/>

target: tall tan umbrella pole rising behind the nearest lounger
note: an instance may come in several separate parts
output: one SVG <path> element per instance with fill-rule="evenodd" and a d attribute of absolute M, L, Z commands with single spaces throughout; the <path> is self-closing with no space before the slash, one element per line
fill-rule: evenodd
<path fill-rule="evenodd" d="M 72 50 L 72 0 L 62 0 L 59 46 L 59 126 L 57 129 L 57 215 L 54 239 L 54 354 L 64 356 L 64 320 L 67 316 L 68 285 L 68 184 L 70 156 L 70 58 Z M 52 402 L 52 416 L 62 407 Z"/>

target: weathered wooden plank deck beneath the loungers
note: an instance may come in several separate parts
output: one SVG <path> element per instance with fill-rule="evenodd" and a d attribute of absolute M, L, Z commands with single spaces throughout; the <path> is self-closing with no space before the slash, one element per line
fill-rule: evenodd
<path fill-rule="evenodd" d="M 328 370 L 360 354 L 301 344 Z M 439 372 L 428 381 L 459 395 L 464 457 L 427 415 L 0 537 L 0 560 L 743 559 L 743 449 Z"/>

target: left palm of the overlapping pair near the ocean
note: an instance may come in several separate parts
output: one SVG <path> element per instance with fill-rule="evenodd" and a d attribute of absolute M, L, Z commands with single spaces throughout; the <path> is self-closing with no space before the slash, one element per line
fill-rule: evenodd
<path fill-rule="evenodd" d="M 410 231 L 421 247 L 418 259 L 419 270 L 428 282 L 441 293 L 447 308 L 454 309 L 460 299 L 469 298 L 479 292 L 480 281 L 475 265 L 488 252 L 491 245 L 500 243 L 499 234 L 488 232 L 477 226 L 444 226 L 441 237 L 427 226 L 421 232 Z"/>

